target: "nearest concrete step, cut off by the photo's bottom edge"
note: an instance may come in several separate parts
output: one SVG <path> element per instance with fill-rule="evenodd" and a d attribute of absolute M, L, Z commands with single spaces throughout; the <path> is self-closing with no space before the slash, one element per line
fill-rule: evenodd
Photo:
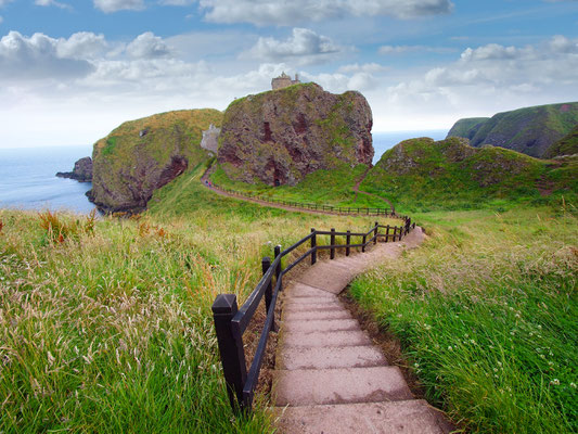
<path fill-rule="evenodd" d="M 454 427 L 423 399 L 275 408 L 286 434 L 448 434 Z"/>

